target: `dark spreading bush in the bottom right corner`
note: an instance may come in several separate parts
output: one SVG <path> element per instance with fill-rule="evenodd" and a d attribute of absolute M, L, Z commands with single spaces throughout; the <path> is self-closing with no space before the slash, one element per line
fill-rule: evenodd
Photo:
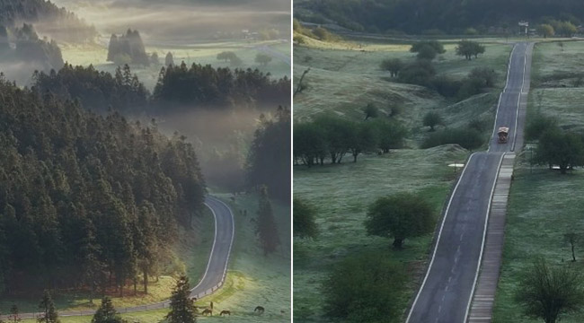
<path fill-rule="evenodd" d="M 555 323 L 562 314 L 578 311 L 584 305 L 584 285 L 580 271 L 570 266 L 548 266 L 537 259 L 524 273 L 515 295 L 525 314 L 545 323 Z"/>

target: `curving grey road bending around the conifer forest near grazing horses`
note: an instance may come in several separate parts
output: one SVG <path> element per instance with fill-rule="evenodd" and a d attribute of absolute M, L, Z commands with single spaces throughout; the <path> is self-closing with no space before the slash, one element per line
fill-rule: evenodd
<path fill-rule="evenodd" d="M 215 240 L 213 240 L 213 247 L 205 275 L 199 284 L 190 290 L 190 297 L 196 297 L 198 299 L 217 291 L 223 285 L 234 240 L 234 216 L 229 206 L 213 196 L 206 197 L 205 205 L 208 206 L 215 217 Z M 163 309 L 167 308 L 169 304 L 170 301 L 160 301 L 153 304 L 117 310 L 120 313 L 130 313 L 142 310 Z M 67 310 L 59 311 L 59 316 L 88 316 L 94 313 L 95 310 Z M 39 314 L 22 313 L 20 317 L 21 319 L 32 319 L 36 318 Z M 0 317 L 0 319 L 8 319 L 8 316 Z"/>

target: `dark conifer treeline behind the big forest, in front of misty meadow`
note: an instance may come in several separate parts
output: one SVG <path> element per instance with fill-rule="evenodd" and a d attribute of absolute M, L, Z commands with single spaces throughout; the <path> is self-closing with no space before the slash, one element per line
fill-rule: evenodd
<path fill-rule="evenodd" d="M 274 80 L 255 69 L 214 68 L 193 64 L 169 65 L 161 69 L 150 95 L 128 65 L 115 74 L 88 67 L 65 65 L 58 72 L 36 73 L 33 87 L 78 99 L 84 107 L 105 112 L 109 107 L 123 113 L 155 115 L 190 109 L 228 109 L 234 106 L 288 105 L 290 80 Z"/>

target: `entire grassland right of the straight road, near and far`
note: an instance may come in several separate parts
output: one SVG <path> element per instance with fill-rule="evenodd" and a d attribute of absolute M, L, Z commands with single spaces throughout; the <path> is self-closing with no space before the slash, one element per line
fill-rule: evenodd
<path fill-rule="evenodd" d="M 541 112 L 556 118 L 565 129 L 584 130 L 584 88 L 574 82 L 584 65 L 584 57 L 578 55 L 582 50 L 582 41 L 564 42 L 563 50 L 553 42 L 535 46 L 527 122 Z M 509 196 L 503 265 L 493 322 L 538 321 L 526 318 L 514 301 L 521 273 L 536 257 L 559 266 L 574 266 L 580 271 L 584 268 L 580 247 L 576 248 L 577 261 L 571 263 L 570 247 L 563 240 L 563 234 L 568 231 L 584 231 L 581 215 L 584 172 L 579 169 L 561 175 L 537 166 L 530 170 L 531 153 L 524 152 L 516 164 Z M 562 322 L 568 323 L 583 320 L 581 312 L 562 317 Z"/>

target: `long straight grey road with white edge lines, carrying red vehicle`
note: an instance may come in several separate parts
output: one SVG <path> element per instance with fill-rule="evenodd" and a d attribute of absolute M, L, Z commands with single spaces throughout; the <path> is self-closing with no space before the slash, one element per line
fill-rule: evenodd
<path fill-rule="evenodd" d="M 518 43 L 509 59 L 509 76 L 495 129 L 509 127 L 508 144 L 498 144 L 496 131 L 489 151 L 474 153 L 447 205 L 436 247 L 420 291 L 406 322 L 464 323 L 481 262 L 491 197 L 503 154 L 515 149 L 522 123 L 518 122 L 520 93 L 528 83 L 526 54 L 529 45 Z"/>

